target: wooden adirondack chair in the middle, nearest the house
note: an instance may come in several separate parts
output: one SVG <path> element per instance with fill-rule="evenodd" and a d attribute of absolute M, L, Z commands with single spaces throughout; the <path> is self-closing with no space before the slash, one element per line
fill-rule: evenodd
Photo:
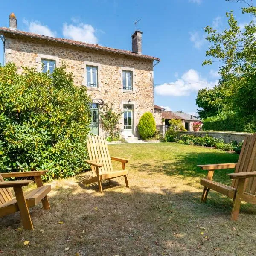
<path fill-rule="evenodd" d="M 111 180 L 116 177 L 124 176 L 125 184 L 129 187 L 127 179 L 128 170 L 125 170 L 125 163 L 128 163 L 128 159 L 110 157 L 107 142 L 100 136 L 88 136 L 87 148 L 90 160 L 87 160 L 86 163 L 90 164 L 93 177 L 89 180 L 84 180 L 84 184 L 98 182 L 99 192 L 102 193 L 101 180 Z M 121 162 L 122 171 L 113 171 L 111 160 Z"/>

